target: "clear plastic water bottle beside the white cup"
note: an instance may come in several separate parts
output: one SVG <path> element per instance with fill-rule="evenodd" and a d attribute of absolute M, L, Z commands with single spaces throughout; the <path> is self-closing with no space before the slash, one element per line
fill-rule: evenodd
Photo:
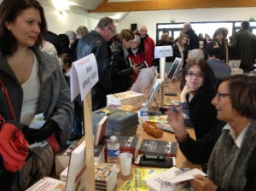
<path fill-rule="evenodd" d="M 107 145 L 108 163 L 115 164 L 117 172 L 120 171 L 119 165 L 120 145 L 116 136 L 110 136 Z"/>

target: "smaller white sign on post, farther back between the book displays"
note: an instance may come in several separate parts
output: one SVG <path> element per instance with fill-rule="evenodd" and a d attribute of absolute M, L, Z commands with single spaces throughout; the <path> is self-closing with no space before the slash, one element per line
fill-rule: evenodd
<path fill-rule="evenodd" d="M 160 79 L 163 82 L 163 85 L 160 90 L 160 107 L 164 107 L 166 57 L 170 57 L 172 55 L 172 46 L 154 47 L 154 58 L 160 58 Z"/>

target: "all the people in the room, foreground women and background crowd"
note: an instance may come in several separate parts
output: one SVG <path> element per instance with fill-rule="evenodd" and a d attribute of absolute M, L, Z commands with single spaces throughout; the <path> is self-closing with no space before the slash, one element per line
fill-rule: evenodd
<path fill-rule="evenodd" d="M 0 94 L 0 114 L 15 124 L 29 144 L 54 136 L 60 147 L 79 140 L 83 132 L 83 104 L 79 96 L 70 101 L 73 61 L 93 53 L 99 81 L 91 90 L 92 110 L 107 106 L 107 95 L 131 88 L 146 61 L 159 67 L 155 46 L 172 46 L 182 58 L 178 113 L 168 110 L 184 155 L 194 163 L 208 163 L 208 177 L 195 176 L 195 190 L 255 190 L 255 119 L 253 76 L 231 76 L 230 60 L 241 60 L 241 69 L 254 69 L 256 37 L 249 22 L 227 41 L 228 31 L 218 28 L 212 39 L 197 35 L 189 22 L 177 39 L 162 33 L 155 43 L 147 26 L 117 32 L 113 19 L 103 17 L 94 30 L 79 26 L 61 34 L 50 32 L 44 9 L 36 0 L 3 0 L 0 4 L 0 80 L 7 87 L 14 116 L 6 97 Z M 22 70 L 20 69 L 22 68 Z M 183 114 L 182 114 L 183 113 Z M 44 124 L 30 128 L 40 114 Z M 183 116 L 188 118 L 184 118 Z M 15 117 L 15 118 L 14 118 Z M 196 141 L 184 127 L 195 128 Z M 231 138 L 230 138 L 231 135 Z M 44 153 L 44 157 L 42 157 Z M 223 157 L 224 156 L 224 157 Z M 25 190 L 49 176 L 54 164 L 51 147 L 32 148 L 20 171 L 8 171 L 0 154 L 0 185 L 4 190 Z M 35 165 L 36 164 L 36 165 Z M 239 165 L 239 168 L 236 166 Z"/>

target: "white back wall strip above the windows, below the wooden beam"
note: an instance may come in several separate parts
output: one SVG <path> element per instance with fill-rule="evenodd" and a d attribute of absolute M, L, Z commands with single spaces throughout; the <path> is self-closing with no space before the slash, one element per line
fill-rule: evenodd
<path fill-rule="evenodd" d="M 203 22 L 203 21 L 233 21 L 256 18 L 256 8 L 229 9 L 180 9 L 162 11 L 131 12 L 124 20 L 119 20 L 118 31 L 130 29 L 131 23 L 137 23 L 137 28 L 148 27 L 148 35 L 155 40 L 156 23 Z"/>

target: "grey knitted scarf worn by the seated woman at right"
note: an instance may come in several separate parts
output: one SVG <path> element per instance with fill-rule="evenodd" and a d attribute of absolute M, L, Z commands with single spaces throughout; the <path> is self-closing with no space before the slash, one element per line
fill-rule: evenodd
<path fill-rule="evenodd" d="M 240 191 L 247 183 L 247 163 L 256 148 L 256 121 L 249 125 L 241 148 L 230 136 L 230 130 L 223 130 L 209 159 L 208 177 L 224 190 Z"/>

